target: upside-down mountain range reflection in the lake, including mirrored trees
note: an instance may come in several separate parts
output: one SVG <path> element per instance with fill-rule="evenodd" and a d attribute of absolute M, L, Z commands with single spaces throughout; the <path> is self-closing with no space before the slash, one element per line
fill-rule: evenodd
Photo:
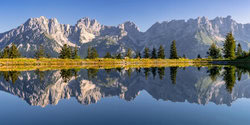
<path fill-rule="evenodd" d="M 230 106 L 250 97 L 248 73 L 234 66 L 4 71 L 0 90 L 41 107 L 71 97 L 81 104 L 110 96 L 132 101 L 142 90 L 157 100 Z"/>

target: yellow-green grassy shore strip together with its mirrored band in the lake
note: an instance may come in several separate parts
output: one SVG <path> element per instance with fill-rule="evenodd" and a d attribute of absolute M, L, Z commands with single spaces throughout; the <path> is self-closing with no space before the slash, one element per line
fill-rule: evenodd
<path fill-rule="evenodd" d="M 212 65 L 211 59 L 58 59 L 58 58 L 15 58 L 0 59 L 0 71 L 58 70 L 70 68 L 147 68 L 188 67 Z"/>

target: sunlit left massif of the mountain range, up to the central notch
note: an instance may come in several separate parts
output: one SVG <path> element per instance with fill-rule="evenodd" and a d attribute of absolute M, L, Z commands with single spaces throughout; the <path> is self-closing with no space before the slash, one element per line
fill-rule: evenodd
<path fill-rule="evenodd" d="M 43 45 L 50 56 L 57 57 L 63 44 L 68 44 L 81 48 L 81 56 L 84 57 L 86 47 L 91 43 L 102 56 L 108 50 L 125 52 L 127 45 L 136 49 L 141 34 L 132 22 L 119 26 L 104 26 L 95 19 L 85 17 L 71 26 L 60 24 L 55 18 L 47 19 L 41 16 L 30 18 L 21 26 L 0 34 L 0 48 L 15 43 L 23 56 L 33 57 L 33 52 Z"/>

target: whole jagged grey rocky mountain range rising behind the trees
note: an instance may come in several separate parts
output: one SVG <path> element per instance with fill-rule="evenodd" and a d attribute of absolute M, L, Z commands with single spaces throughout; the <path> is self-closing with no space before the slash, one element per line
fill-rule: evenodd
<path fill-rule="evenodd" d="M 142 52 L 145 47 L 152 49 L 163 45 L 169 56 L 170 44 L 176 40 L 179 56 L 185 54 L 188 58 L 195 58 L 198 54 L 206 56 L 212 43 L 222 46 L 228 32 L 234 34 L 244 50 L 249 49 L 250 24 L 237 23 L 231 16 L 212 20 L 198 17 L 157 22 L 145 32 L 130 21 L 118 26 L 106 26 L 85 17 L 75 25 L 69 25 L 60 24 L 55 18 L 41 16 L 30 18 L 17 28 L 0 33 L 0 50 L 14 43 L 24 57 L 34 57 L 34 52 L 43 45 L 47 54 L 57 57 L 63 44 L 68 44 L 77 46 L 81 57 L 86 57 L 88 47 L 95 47 L 102 57 L 106 52 L 125 54 L 128 48 L 133 52 Z"/>

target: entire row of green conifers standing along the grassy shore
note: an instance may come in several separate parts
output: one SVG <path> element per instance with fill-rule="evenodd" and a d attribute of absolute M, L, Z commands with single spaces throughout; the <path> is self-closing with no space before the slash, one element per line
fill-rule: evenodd
<path fill-rule="evenodd" d="M 78 53 L 78 47 L 71 47 L 67 44 L 64 44 L 61 48 L 61 51 L 59 52 L 59 58 L 61 59 L 79 59 L 79 53 Z M 135 56 L 133 56 L 135 55 Z M 234 36 L 232 32 L 228 33 L 223 47 L 219 48 L 216 46 L 215 43 L 211 44 L 211 46 L 208 49 L 207 52 L 208 58 L 212 59 L 218 59 L 218 58 L 228 58 L 228 59 L 235 59 L 235 58 L 245 58 L 249 56 L 249 52 L 243 51 L 241 44 L 238 43 L 236 47 L 236 41 L 234 39 Z M 18 51 L 18 48 L 15 44 L 11 44 L 11 46 L 6 46 L 3 51 L 1 52 L 1 58 L 19 58 L 21 57 L 20 52 Z M 44 58 L 44 57 L 50 57 L 48 54 L 45 54 L 44 46 L 40 45 L 39 48 L 37 48 L 37 51 L 34 55 L 35 58 Z M 87 59 L 95 59 L 99 58 L 99 54 L 94 47 L 88 47 L 87 49 Z M 147 59 L 165 59 L 165 50 L 162 45 L 158 49 L 155 47 L 150 50 L 150 48 L 145 47 L 143 52 L 140 51 L 133 53 L 133 51 L 128 48 L 125 55 L 122 53 L 116 53 L 111 54 L 110 52 L 107 52 L 103 58 L 112 58 L 112 59 L 124 59 L 124 58 L 147 58 Z M 170 46 L 170 59 L 179 59 L 179 58 L 186 58 L 185 54 L 180 57 L 177 54 L 176 49 L 176 41 L 173 40 Z M 197 58 L 201 58 L 201 55 L 198 54 Z"/>

